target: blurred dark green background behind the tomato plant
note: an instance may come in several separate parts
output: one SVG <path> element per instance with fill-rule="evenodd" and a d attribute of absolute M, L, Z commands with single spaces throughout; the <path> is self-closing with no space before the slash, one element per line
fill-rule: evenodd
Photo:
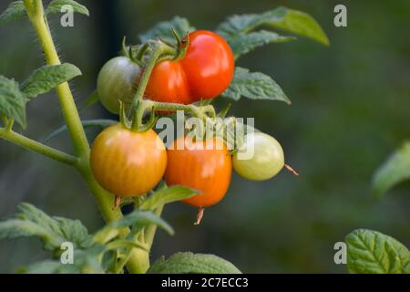
<path fill-rule="evenodd" d="M 2 1 L 3 11 L 9 1 Z M 344 273 L 333 262 L 333 245 L 354 228 L 392 235 L 410 246 L 410 183 L 376 201 L 370 182 L 375 169 L 410 139 L 410 2 L 329 0 L 120 0 L 79 1 L 90 16 L 75 16 L 75 27 L 51 26 L 64 61 L 81 68 L 71 82 L 78 107 L 96 87 L 99 68 L 117 55 L 122 36 L 136 43 L 138 33 L 160 20 L 186 16 L 192 25 L 213 29 L 226 16 L 259 13 L 278 5 L 308 12 L 323 26 L 331 47 L 303 38 L 262 47 L 238 64 L 271 75 L 292 99 L 281 102 L 241 99 L 231 114 L 256 117 L 256 126 L 282 142 L 286 160 L 301 176 L 282 172 L 264 183 L 237 175 L 222 203 L 205 212 L 170 205 L 164 217 L 176 229 L 159 232 L 152 257 L 177 251 L 220 255 L 243 272 Z M 347 6 L 348 27 L 333 26 L 333 7 Z M 0 74 L 23 80 L 43 64 L 27 21 L 0 27 Z M 28 105 L 29 137 L 40 139 L 62 123 L 55 93 Z M 115 118 L 100 105 L 82 111 L 84 119 Z M 90 140 L 96 133 L 89 132 Z M 67 135 L 51 144 L 71 151 Z M 57 162 L 0 141 L 0 217 L 19 202 L 35 203 L 48 214 L 80 219 L 90 231 L 102 218 L 76 172 Z M 36 260 L 36 240 L 0 242 L 0 272 Z"/>

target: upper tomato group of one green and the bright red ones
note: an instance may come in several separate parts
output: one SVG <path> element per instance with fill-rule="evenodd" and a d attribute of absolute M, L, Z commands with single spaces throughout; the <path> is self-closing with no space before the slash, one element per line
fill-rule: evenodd
<path fill-rule="evenodd" d="M 218 34 L 197 30 L 189 34 L 189 46 L 179 60 L 164 60 L 153 68 L 144 97 L 161 102 L 189 104 L 214 99 L 233 78 L 231 47 Z M 107 110 L 118 113 L 119 101 L 126 107 L 138 87 L 142 69 L 128 57 L 114 57 L 101 68 L 97 93 Z"/>

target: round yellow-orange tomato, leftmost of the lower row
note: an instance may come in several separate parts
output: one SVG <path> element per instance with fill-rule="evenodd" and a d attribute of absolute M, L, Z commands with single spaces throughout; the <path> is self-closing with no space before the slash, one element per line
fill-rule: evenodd
<path fill-rule="evenodd" d="M 155 131 L 133 132 L 121 124 L 97 136 L 90 156 L 97 182 L 122 197 L 147 193 L 167 167 L 167 151 Z"/>

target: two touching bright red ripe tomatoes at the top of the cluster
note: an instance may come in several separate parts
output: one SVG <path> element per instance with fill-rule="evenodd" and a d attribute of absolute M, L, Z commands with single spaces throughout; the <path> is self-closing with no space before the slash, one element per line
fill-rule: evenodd
<path fill-rule="evenodd" d="M 216 98 L 229 87 L 234 60 L 228 43 L 207 30 L 197 30 L 189 36 L 190 46 L 185 57 L 155 66 L 145 91 L 146 98 L 188 104 Z"/>

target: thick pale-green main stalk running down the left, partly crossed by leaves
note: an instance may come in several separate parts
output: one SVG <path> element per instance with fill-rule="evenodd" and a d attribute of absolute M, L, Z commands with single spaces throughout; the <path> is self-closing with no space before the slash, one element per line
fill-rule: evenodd
<path fill-rule="evenodd" d="M 36 30 L 36 35 L 43 48 L 46 63 L 48 65 L 61 64 L 56 53 L 56 47 L 53 42 L 50 30 L 44 15 L 44 7 L 41 0 L 25 0 L 27 15 L 30 18 L 32 25 Z M 61 109 L 64 114 L 64 119 L 67 123 L 75 154 L 77 156 L 77 169 L 83 176 L 91 193 L 94 195 L 99 210 L 103 214 L 106 222 L 116 221 L 122 218 L 121 211 L 113 209 L 115 197 L 111 193 L 105 191 L 95 180 L 89 165 L 89 144 L 85 130 L 79 118 L 76 103 L 74 102 L 71 89 L 68 83 L 65 82 L 56 87 L 56 93 L 60 101 Z M 127 235 L 128 228 L 124 228 L 122 235 Z M 145 273 L 149 268 L 149 253 L 139 249 L 135 249 L 128 261 L 128 270 L 131 273 Z"/>

